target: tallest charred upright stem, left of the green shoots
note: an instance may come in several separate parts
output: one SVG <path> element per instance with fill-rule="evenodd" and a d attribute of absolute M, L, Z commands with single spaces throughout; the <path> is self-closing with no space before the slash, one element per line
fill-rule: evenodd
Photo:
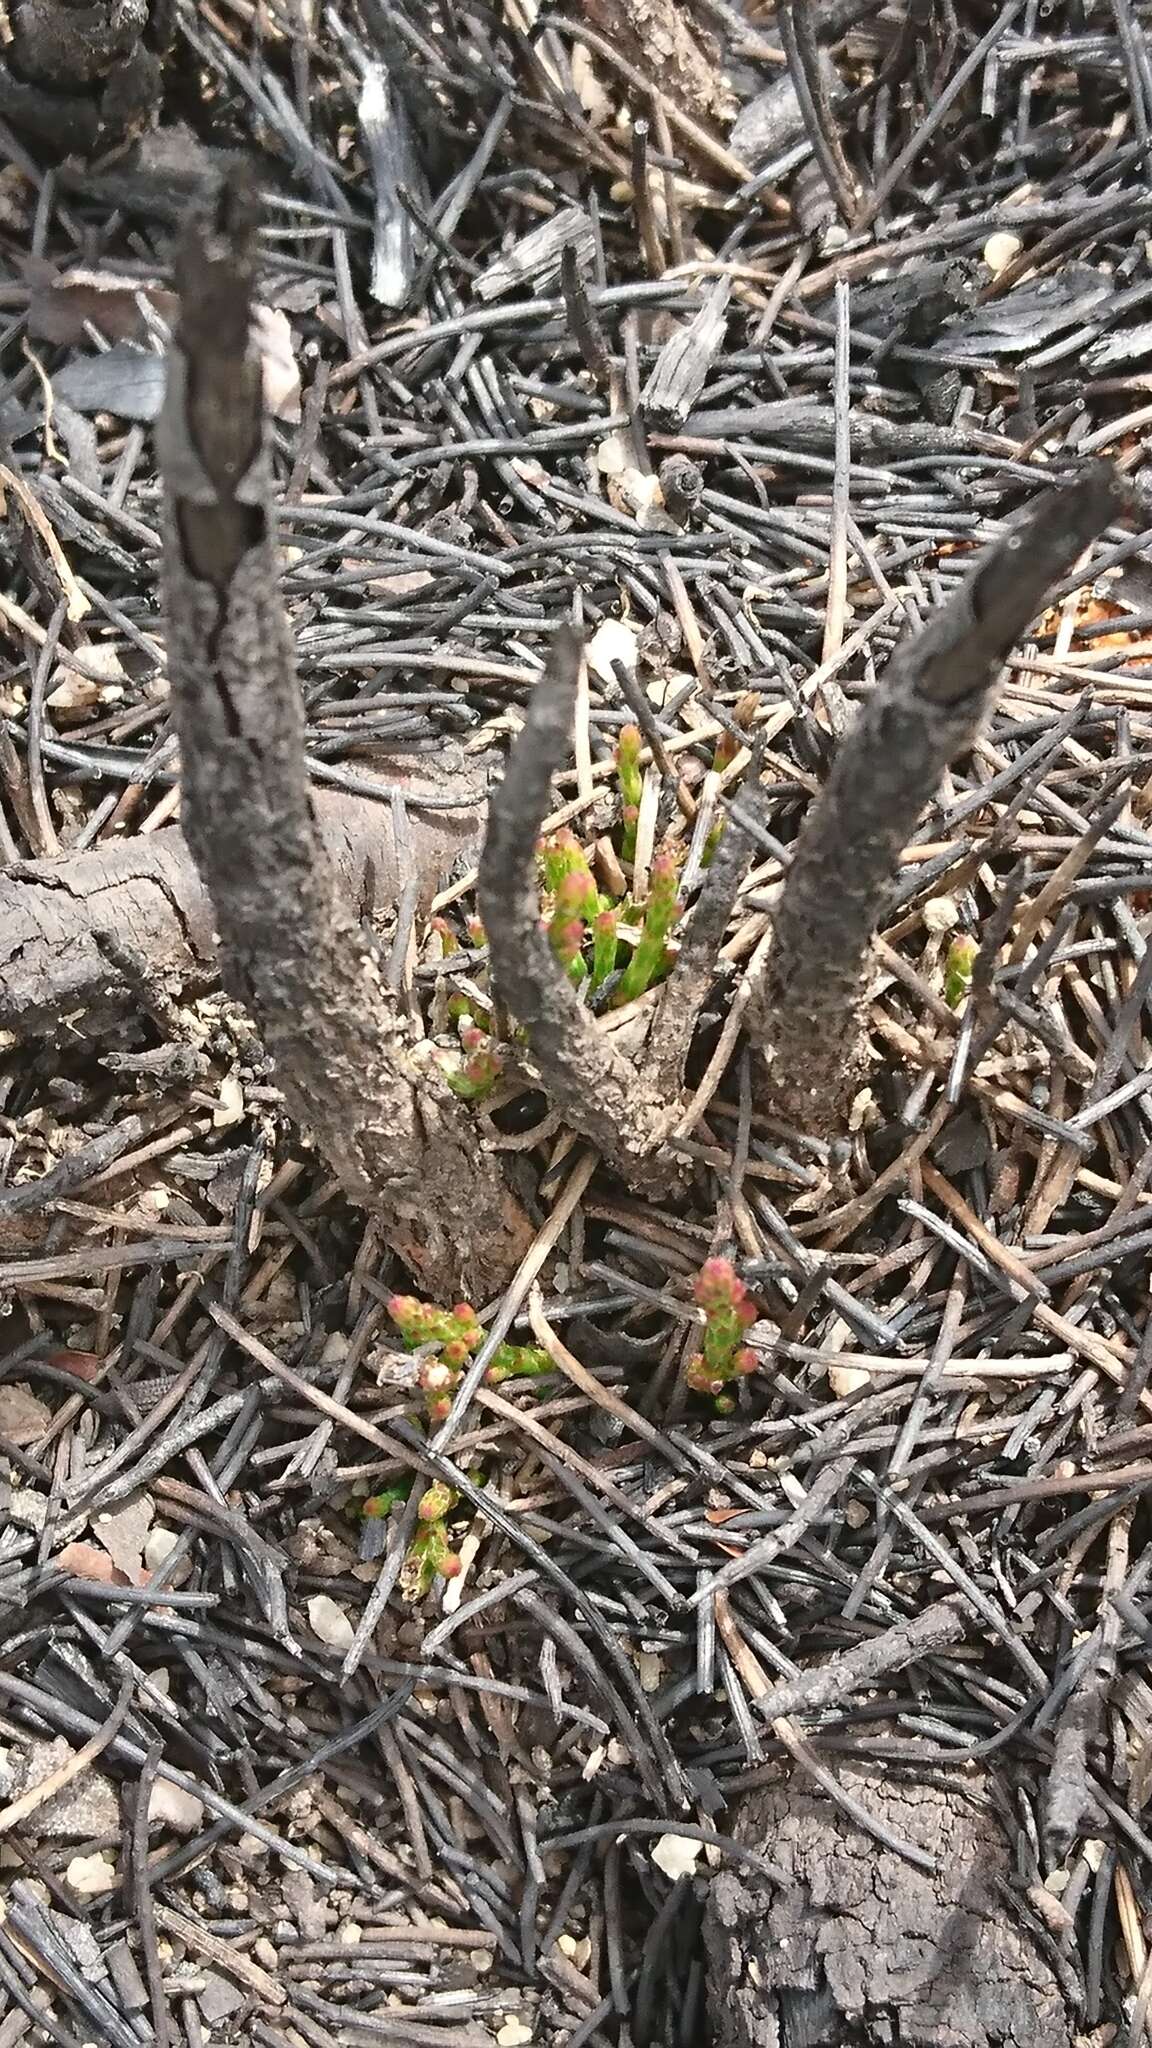
<path fill-rule="evenodd" d="M 418 1065 L 307 786 L 303 709 L 277 584 L 260 360 L 250 344 L 254 182 L 221 180 L 184 229 L 180 322 L 158 432 L 168 672 L 182 825 L 291 1114 L 441 1298 L 508 1280 L 529 1243 L 496 1163 Z"/>

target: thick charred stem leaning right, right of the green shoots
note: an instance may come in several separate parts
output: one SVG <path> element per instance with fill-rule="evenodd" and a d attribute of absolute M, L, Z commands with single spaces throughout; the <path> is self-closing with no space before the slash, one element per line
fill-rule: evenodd
<path fill-rule="evenodd" d="M 949 760 L 972 743 L 1000 670 L 1045 592 L 1127 508 L 1101 463 L 1045 492 L 953 598 L 898 647 L 845 737 L 795 842 L 775 944 L 748 1010 L 775 1110 L 832 1135 L 859 1053 L 859 987 L 900 854 Z"/>

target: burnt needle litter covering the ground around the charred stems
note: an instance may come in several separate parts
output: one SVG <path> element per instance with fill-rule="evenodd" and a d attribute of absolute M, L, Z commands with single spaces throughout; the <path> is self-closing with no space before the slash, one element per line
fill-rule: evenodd
<path fill-rule="evenodd" d="M 845 1761 L 994 1772 L 1076 2032 L 1146 2038 L 1150 10 L 701 0 L 654 72 L 611 14 L 176 0 L 86 162 L 0 51 L 0 2048 L 703 2044 L 785 1755 L 849 1812 Z M 535 1237 L 439 1405 L 172 831 L 152 422 L 236 150 L 310 772 L 412 1028 L 498 1040 L 482 797 L 572 627 L 599 1026 L 668 864 L 717 926 L 670 1192 L 461 1067 Z M 797 825 L 1099 457 L 1136 516 L 916 823 L 804 1137 L 738 1032 Z"/>

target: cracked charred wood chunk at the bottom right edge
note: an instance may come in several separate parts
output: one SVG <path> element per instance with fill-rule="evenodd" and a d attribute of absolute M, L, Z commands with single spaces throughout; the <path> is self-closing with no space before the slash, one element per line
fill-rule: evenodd
<path fill-rule="evenodd" d="M 935 1870 L 779 1765 L 734 1831 L 789 1886 L 722 1870 L 709 1890 L 715 2048 L 1072 2048 L 1072 1972 L 1011 1888 L 1004 1792 L 972 1765 L 927 1784 L 853 1759 L 836 1778 Z"/>

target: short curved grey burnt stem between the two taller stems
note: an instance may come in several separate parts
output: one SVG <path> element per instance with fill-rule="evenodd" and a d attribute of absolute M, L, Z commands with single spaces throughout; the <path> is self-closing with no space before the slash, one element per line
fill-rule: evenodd
<path fill-rule="evenodd" d="M 660 1149 L 662 1106 L 596 1030 L 553 958 L 539 918 L 535 850 L 551 776 L 570 743 L 578 672 L 580 643 L 562 631 L 533 690 L 504 780 L 488 803 L 480 915 L 496 993 L 527 1030 L 551 1106 L 627 1182 L 668 1188 L 676 1180 L 676 1163 Z"/>

